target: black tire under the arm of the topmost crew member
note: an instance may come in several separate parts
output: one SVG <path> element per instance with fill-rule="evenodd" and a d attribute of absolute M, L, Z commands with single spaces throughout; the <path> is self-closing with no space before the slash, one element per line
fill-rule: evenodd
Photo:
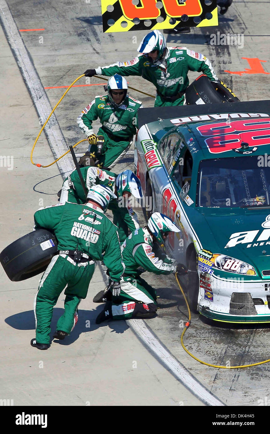
<path fill-rule="evenodd" d="M 237 102 L 239 99 L 223 82 L 214 83 L 199 76 L 185 92 L 186 104 L 213 104 L 215 102 Z"/>

